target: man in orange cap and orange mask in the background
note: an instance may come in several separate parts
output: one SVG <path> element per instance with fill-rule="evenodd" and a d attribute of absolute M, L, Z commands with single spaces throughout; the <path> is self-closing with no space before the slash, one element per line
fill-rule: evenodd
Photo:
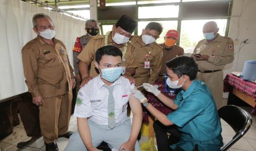
<path fill-rule="evenodd" d="M 177 46 L 176 43 L 179 39 L 179 32 L 176 30 L 168 30 L 165 35 L 165 42 L 160 44 L 162 46 L 162 65 L 161 71 L 159 73 L 159 77 L 157 82 L 164 83 L 164 75 L 166 72 L 166 62 L 172 60 L 177 56 L 184 55 L 184 49 Z"/>

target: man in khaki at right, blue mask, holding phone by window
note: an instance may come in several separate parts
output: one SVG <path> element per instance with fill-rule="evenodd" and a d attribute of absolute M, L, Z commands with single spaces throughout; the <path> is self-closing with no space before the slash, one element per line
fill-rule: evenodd
<path fill-rule="evenodd" d="M 224 66 L 234 60 L 233 40 L 222 37 L 216 22 L 206 22 L 203 27 L 205 39 L 200 40 L 192 57 L 198 64 L 197 78 L 209 86 L 217 108 L 222 106 Z"/>

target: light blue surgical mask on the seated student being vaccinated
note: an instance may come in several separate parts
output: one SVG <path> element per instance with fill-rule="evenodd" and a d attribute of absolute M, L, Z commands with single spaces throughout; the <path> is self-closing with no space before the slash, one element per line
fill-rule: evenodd
<path fill-rule="evenodd" d="M 124 72 L 123 70 L 124 70 L 124 67 L 105 68 L 105 69 L 101 69 L 100 74 L 101 74 L 101 77 L 107 80 L 108 82 L 115 82 Z"/>

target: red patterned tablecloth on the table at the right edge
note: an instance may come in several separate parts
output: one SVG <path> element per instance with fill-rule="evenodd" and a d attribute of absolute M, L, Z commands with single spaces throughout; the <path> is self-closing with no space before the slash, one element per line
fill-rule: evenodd
<path fill-rule="evenodd" d="M 247 82 L 246 80 L 236 77 L 233 74 L 227 74 L 224 79 L 224 92 L 229 91 L 230 85 L 235 87 L 239 91 L 254 97 L 256 102 L 256 84 L 252 82 Z M 253 107 L 252 113 L 256 113 L 256 105 Z"/>

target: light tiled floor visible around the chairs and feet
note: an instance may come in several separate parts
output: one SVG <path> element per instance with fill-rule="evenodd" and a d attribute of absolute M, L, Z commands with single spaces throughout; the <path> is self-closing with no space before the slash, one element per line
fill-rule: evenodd
<path fill-rule="evenodd" d="M 246 108 L 247 109 L 247 108 Z M 237 143 L 235 143 L 232 148 L 229 150 L 254 150 L 256 151 L 256 115 L 252 115 L 253 125 L 250 127 L 249 131 L 242 137 Z M 224 143 L 226 144 L 235 134 L 230 126 L 228 126 L 225 121 L 221 120 L 222 125 L 222 137 Z M 70 131 L 77 130 L 77 120 L 72 116 L 70 119 L 69 125 Z M 23 124 L 21 123 L 18 126 L 15 126 L 13 129 L 13 133 L 8 137 L 4 138 L 0 141 L 0 151 L 8 150 L 8 151 L 16 151 L 19 150 L 17 148 L 17 143 L 20 141 L 28 141 L 30 137 L 26 136 L 26 132 L 24 130 Z M 140 144 L 148 140 L 147 136 L 144 136 L 140 140 Z M 59 150 L 62 151 L 68 143 L 67 138 L 58 138 L 57 144 Z M 34 151 L 34 150 L 45 150 L 45 144 L 43 143 L 43 138 L 40 137 L 34 143 L 29 145 L 29 147 L 24 148 L 26 151 Z M 74 150 L 75 151 L 75 150 Z"/>

